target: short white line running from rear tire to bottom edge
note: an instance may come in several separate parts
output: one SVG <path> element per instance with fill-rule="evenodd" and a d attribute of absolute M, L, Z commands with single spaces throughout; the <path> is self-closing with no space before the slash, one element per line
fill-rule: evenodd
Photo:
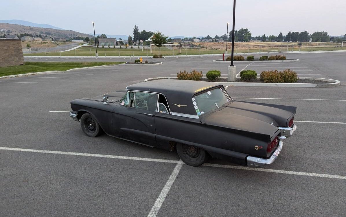
<path fill-rule="evenodd" d="M 176 164 L 172 174 L 170 175 L 170 178 L 168 178 L 168 181 L 166 182 L 165 186 L 163 187 L 160 195 L 158 196 L 158 198 L 155 201 L 154 206 L 152 207 L 152 209 L 150 210 L 148 217 L 156 217 L 158 211 L 160 210 L 163 201 L 165 200 L 168 192 L 170 191 L 173 182 L 175 181 L 176 176 L 178 175 L 181 167 L 183 166 L 182 161 L 180 161 L 179 163 Z"/>

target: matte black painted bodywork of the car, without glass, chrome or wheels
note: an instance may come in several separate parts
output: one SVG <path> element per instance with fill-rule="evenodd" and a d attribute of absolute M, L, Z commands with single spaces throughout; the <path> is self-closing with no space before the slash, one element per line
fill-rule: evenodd
<path fill-rule="evenodd" d="M 196 115 L 192 96 L 215 87 L 219 85 L 158 80 L 130 85 L 127 90 L 163 93 L 171 111 Z M 220 87 L 223 88 L 222 85 Z M 110 136 L 167 150 L 172 142 L 194 145 L 203 148 L 212 157 L 242 165 L 246 165 L 248 155 L 267 158 L 268 142 L 280 134 L 277 126 L 288 126 L 296 110 L 291 106 L 232 101 L 200 116 L 200 119 L 194 119 L 121 106 L 120 99 L 125 92 L 73 100 L 72 112 L 78 114 L 78 118 L 89 112 Z M 109 97 L 108 105 L 103 104 L 103 96 Z M 171 106 L 171 103 L 187 106 L 179 108 Z M 263 148 L 256 150 L 255 146 Z"/>

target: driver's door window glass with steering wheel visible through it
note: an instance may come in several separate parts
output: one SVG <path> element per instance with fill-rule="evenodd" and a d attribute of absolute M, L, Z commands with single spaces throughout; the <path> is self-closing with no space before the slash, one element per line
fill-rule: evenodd
<path fill-rule="evenodd" d="M 156 93 L 135 92 L 132 107 L 148 111 L 156 111 L 157 100 L 158 94 Z"/>

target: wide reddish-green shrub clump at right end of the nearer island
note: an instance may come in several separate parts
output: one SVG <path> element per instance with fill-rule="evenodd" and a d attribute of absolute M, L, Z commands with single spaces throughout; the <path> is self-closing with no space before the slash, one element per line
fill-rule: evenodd
<path fill-rule="evenodd" d="M 265 83 L 294 83 L 298 81 L 297 73 L 290 69 L 283 71 L 263 71 L 260 79 Z"/>

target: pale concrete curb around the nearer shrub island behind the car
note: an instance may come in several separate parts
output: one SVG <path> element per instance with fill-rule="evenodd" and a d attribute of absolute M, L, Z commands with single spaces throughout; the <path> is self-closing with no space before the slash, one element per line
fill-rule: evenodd
<path fill-rule="evenodd" d="M 158 80 L 158 79 L 176 79 L 175 77 L 157 77 L 148 78 L 144 81 Z M 327 88 L 336 87 L 340 85 L 340 81 L 326 78 L 299 78 L 303 80 L 320 80 L 320 81 L 334 81 L 329 84 L 302 84 L 302 83 L 245 83 L 245 82 L 215 82 L 224 86 L 237 86 L 237 87 L 300 87 L 300 88 Z"/>

